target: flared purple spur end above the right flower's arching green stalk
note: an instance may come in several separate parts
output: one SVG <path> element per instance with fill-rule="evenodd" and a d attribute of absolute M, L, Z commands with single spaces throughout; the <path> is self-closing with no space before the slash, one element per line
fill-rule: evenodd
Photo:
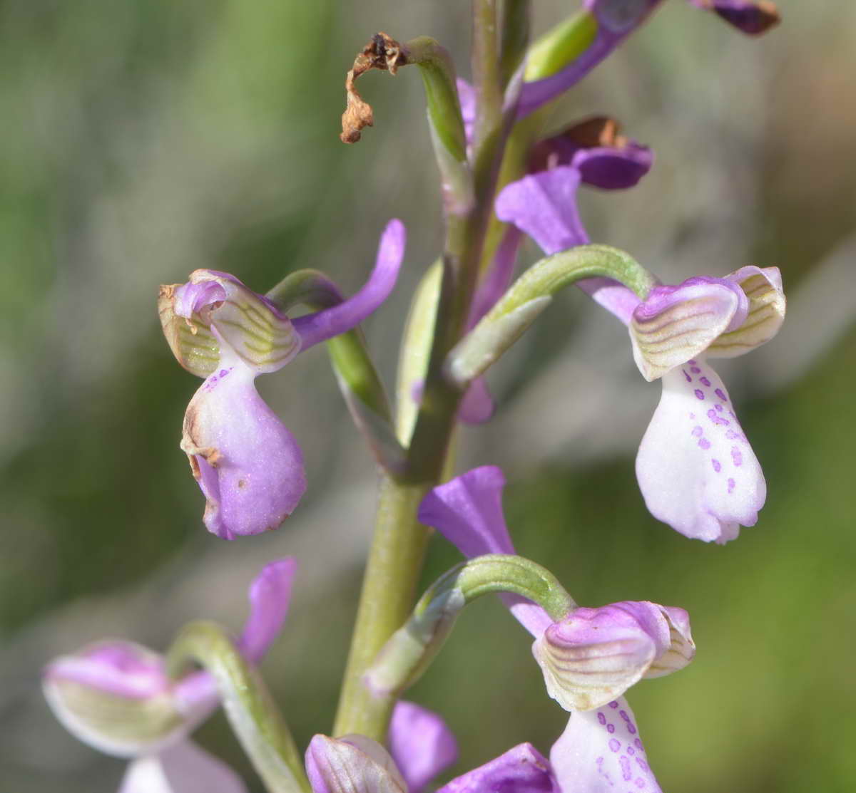
<path fill-rule="evenodd" d="M 506 185 L 496 197 L 496 217 L 514 223 L 546 254 L 588 243 L 577 211 L 580 172 L 571 166 L 532 173 Z"/>

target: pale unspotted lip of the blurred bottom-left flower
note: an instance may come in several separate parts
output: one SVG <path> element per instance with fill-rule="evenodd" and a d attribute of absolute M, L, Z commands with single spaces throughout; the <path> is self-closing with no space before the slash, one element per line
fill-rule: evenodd
<path fill-rule="evenodd" d="M 184 741 L 128 766 L 119 793 L 247 793 L 223 761 Z"/>

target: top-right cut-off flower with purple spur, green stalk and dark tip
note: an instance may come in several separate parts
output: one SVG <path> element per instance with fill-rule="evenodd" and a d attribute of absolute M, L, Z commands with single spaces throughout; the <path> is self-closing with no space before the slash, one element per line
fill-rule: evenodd
<path fill-rule="evenodd" d="M 663 0 L 585 0 L 580 13 L 532 46 L 518 115 L 529 115 L 576 85 L 636 31 Z M 767 0 L 689 0 L 752 36 L 779 21 Z M 563 56 L 570 50 L 570 62 Z M 555 63 L 555 65 L 554 65 Z M 532 79 L 535 76 L 540 79 Z"/>

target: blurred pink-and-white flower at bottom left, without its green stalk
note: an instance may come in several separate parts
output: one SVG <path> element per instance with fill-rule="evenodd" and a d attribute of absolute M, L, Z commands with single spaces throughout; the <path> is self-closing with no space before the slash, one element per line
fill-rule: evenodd
<path fill-rule="evenodd" d="M 288 613 L 296 563 L 265 565 L 249 590 L 250 613 L 238 645 L 258 663 Z M 217 708 L 207 672 L 167 677 L 162 655 L 106 639 L 45 667 L 45 698 L 75 737 L 108 755 L 132 758 L 120 793 L 241 793 L 241 780 L 189 739 Z"/>

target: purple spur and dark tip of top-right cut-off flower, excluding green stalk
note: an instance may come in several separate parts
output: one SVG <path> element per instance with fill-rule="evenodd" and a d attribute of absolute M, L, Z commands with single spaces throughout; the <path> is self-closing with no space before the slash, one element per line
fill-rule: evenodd
<path fill-rule="evenodd" d="M 523 85 L 518 115 L 529 115 L 568 91 L 642 25 L 663 0 L 584 0 L 582 14 L 593 23 L 591 44 L 560 71 Z M 741 32 L 757 36 L 779 21 L 778 11 L 767 0 L 689 0 L 712 11 Z"/>

